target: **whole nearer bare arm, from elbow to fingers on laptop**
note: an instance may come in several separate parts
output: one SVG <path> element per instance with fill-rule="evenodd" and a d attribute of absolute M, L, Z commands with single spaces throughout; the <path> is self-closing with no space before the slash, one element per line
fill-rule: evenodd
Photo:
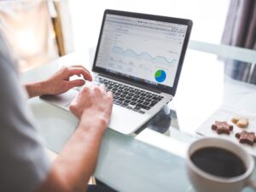
<path fill-rule="evenodd" d="M 102 87 L 84 88 L 70 107 L 79 126 L 55 160 L 38 191 L 86 191 L 103 133 L 112 110 L 112 93 Z"/>

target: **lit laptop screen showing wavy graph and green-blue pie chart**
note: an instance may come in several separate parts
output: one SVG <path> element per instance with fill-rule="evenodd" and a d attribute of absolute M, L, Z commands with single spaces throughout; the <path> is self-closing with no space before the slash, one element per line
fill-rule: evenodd
<path fill-rule="evenodd" d="M 146 84 L 172 87 L 188 25 L 105 16 L 95 65 Z"/>

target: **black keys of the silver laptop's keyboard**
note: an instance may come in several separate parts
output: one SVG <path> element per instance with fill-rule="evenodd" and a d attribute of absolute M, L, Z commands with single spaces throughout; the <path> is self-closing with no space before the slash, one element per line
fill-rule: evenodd
<path fill-rule="evenodd" d="M 106 89 L 113 92 L 113 104 L 138 113 L 145 113 L 164 98 L 163 96 L 101 77 L 98 77 L 96 82 L 105 84 Z"/>

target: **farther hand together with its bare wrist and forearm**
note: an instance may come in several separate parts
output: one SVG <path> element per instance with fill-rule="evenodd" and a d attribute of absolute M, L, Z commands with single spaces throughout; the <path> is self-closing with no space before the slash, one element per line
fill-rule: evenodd
<path fill-rule="evenodd" d="M 70 80 L 73 75 L 83 77 L 84 79 Z M 84 85 L 85 79 L 92 81 L 89 71 L 83 66 L 63 67 L 49 79 L 38 83 L 26 84 L 26 90 L 30 97 L 58 95 L 67 92 L 67 90 L 70 90 L 73 87 Z"/>

